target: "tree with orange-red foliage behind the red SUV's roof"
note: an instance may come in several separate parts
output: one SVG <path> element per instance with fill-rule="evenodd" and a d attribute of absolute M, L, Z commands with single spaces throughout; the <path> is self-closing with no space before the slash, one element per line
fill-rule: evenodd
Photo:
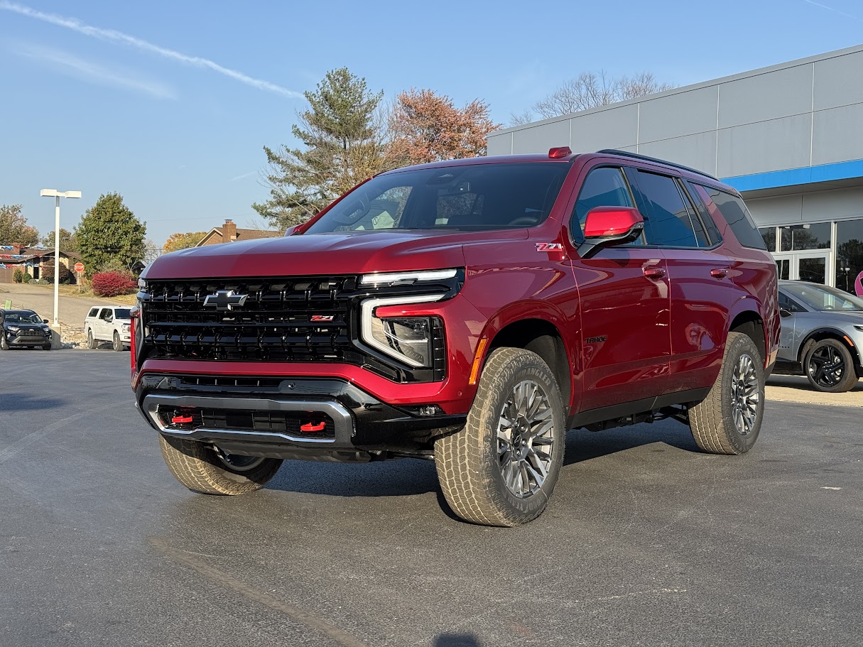
<path fill-rule="evenodd" d="M 486 154 L 486 135 L 502 127 L 488 104 L 474 99 L 462 109 L 432 90 L 402 92 L 390 118 L 391 152 L 404 164 L 423 164 Z"/>

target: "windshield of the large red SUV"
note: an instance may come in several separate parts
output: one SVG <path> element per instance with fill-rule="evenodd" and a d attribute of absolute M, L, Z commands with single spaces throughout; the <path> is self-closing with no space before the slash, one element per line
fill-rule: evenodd
<path fill-rule="evenodd" d="M 305 233 L 532 227 L 548 217 L 569 170 L 532 162 L 387 173 L 357 187 Z"/>

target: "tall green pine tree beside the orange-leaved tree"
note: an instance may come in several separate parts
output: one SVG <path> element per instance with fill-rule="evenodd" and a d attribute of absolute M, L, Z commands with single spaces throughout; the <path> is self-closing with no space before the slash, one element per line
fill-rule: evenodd
<path fill-rule="evenodd" d="M 362 180 L 393 166 L 387 157 L 378 106 L 365 79 L 346 67 L 327 72 L 317 91 L 304 93 L 309 109 L 291 129 L 305 149 L 264 147 L 270 199 L 252 207 L 274 226 L 304 223 Z"/>

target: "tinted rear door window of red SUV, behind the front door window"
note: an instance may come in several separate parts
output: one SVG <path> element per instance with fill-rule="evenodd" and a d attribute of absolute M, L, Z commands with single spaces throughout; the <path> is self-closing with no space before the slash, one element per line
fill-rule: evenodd
<path fill-rule="evenodd" d="M 646 217 L 647 244 L 664 247 L 698 247 L 690 210 L 677 182 L 666 175 L 638 171 L 639 191 L 651 213 Z"/>

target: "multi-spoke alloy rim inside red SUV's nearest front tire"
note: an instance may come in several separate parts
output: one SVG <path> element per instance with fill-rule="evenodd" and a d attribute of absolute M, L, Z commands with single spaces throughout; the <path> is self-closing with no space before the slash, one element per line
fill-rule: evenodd
<path fill-rule="evenodd" d="M 497 427 L 498 465 L 507 489 L 519 499 L 536 493 L 551 468 L 555 439 L 551 404 L 543 387 L 522 380 L 503 405 Z"/>

